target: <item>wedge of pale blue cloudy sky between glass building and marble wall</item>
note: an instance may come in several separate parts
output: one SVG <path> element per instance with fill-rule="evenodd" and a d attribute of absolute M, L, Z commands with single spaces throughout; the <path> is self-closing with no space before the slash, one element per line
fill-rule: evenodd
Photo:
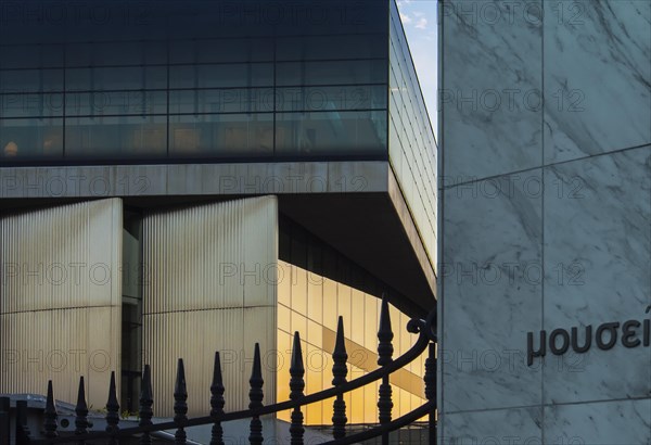
<path fill-rule="evenodd" d="M 425 98 L 434 132 L 436 129 L 437 48 L 436 0 L 397 0 L 403 26 Z"/>

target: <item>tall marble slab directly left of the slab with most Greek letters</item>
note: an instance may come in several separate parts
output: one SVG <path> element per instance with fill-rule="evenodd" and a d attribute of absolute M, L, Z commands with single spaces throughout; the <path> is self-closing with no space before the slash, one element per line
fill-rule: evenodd
<path fill-rule="evenodd" d="M 541 369 L 526 366 L 526 332 L 542 323 L 540 175 L 445 191 L 438 357 L 446 412 L 542 400 Z"/>

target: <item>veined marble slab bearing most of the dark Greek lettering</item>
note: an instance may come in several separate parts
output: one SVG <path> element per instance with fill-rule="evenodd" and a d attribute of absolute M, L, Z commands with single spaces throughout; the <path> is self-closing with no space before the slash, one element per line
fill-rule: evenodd
<path fill-rule="evenodd" d="M 649 317 L 651 145 L 547 167 L 545 183 L 548 333 Z M 544 377 L 545 403 L 650 397 L 651 348 L 592 342 L 587 354 L 548 354 Z"/>

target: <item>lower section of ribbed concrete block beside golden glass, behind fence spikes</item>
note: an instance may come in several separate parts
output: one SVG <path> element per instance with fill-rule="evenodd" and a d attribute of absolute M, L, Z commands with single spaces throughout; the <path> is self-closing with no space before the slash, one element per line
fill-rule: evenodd
<path fill-rule="evenodd" d="M 183 358 L 189 412 L 210 409 L 215 351 L 220 352 L 226 409 L 246 409 L 255 342 L 260 343 L 265 404 L 276 400 L 276 308 L 190 310 L 146 316 L 145 363 L 152 366 L 154 412 L 174 416 L 177 359 Z M 245 329 L 242 327 L 245 326 Z M 246 333 L 243 331 L 246 330 Z"/>

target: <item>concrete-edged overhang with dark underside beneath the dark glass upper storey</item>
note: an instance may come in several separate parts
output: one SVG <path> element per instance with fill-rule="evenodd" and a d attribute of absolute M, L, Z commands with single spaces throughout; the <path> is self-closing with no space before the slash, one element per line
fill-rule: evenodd
<path fill-rule="evenodd" d="M 0 211 L 119 196 L 139 208 L 275 194 L 294 219 L 423 316 L 436 277 L 388 161 L 0 168 Z"/>

